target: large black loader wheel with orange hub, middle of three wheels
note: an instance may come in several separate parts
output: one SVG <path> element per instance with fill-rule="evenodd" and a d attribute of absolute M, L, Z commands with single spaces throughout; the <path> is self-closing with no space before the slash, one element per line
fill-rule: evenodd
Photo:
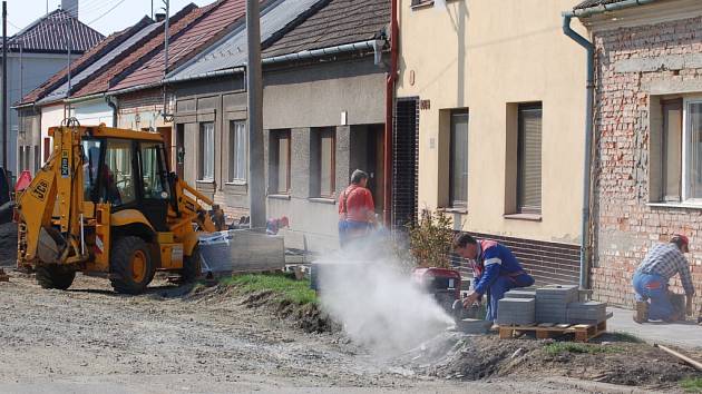
<path fill-rule="evenodd" d="M 154 277 L 148 245 L 139 237 L 118 238 L 109 265 L 110 283 L 117 293 L 142 294 Z"/>

